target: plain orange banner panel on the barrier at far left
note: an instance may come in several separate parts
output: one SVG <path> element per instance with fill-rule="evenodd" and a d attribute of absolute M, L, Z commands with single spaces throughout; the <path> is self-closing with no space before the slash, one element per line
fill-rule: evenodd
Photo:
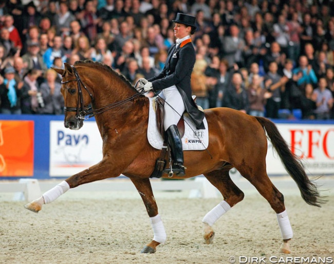
<path fill-rule="evenodd" d="M 33 121 L 0 121 L 0 176 L 33 176 Z"/>

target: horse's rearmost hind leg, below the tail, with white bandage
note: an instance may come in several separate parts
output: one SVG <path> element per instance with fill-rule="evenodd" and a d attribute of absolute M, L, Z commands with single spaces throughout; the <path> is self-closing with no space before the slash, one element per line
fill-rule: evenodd
<path fill-rule="evenodd" d="M 283 194 L 272 184 L 265 168 L 258 169 L 257 173 L 253 174 L 253 177 L 245 176 L 246 174 L 243 173 L 242 175 L 254 185 L 256 190 L 269 202 L 271 208 L 276 212 L 277 221 L 283 237 L 283 244 L 280 251 L 285 254 L 291 253 L 289 241 L 292 238 L 293 232 L 288 214 L 285 211 Z"/>

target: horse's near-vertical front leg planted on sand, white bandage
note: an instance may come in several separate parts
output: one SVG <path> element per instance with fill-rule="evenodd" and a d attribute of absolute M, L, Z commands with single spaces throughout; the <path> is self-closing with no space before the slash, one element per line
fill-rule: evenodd
<path fill-rule="evenodd" d="M 154 233 L 153 240 L 146 244 L 146 246 L 141 250 L 141 253 L 155 253 L 156 247 L 166 241 L 167 235 L 163 227 L 161 217 L 158 213 L 158 206 L 153 196 L 151 182 L 149 178 L 131 178 L 131 180 L 135 184 L 137 191 L 145 204 Z"/>

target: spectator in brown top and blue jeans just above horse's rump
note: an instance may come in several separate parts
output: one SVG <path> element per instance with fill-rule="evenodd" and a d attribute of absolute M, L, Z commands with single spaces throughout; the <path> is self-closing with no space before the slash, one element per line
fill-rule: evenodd
<path fill-rule="evenodd" d="M 253 74 L 252 81 L 247 88 L 249 101 L 249 112 L 251 116 L 264 117 L 265 105 L 267 99 L 272 96 L 270 92 L 261 87 L 262 77 L 258 74 Z"/>

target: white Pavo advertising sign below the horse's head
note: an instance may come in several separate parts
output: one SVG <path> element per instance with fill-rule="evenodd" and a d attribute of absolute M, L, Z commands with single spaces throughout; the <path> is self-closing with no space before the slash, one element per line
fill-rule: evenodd
<path fill-rule="evenodd" d="M 102 139 L 95 122 L 85 122 L 80 130 L 50 122 L 51 177 L 71 176 L 102 160 Z"/>

